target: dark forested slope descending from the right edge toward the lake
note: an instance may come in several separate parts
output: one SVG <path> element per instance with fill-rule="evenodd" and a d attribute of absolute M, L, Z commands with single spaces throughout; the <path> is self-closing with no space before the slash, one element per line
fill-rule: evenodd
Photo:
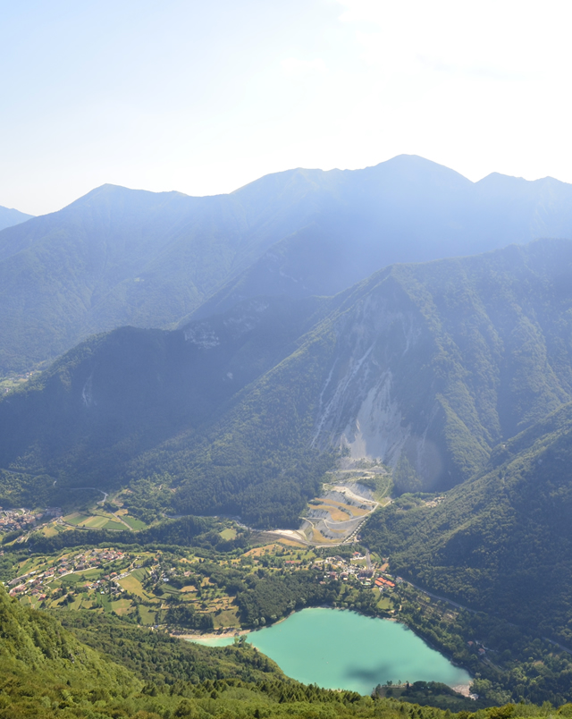
<path fill-rule="evenodd" d="M 436 507 L 399 501 L 364 532 L 392 568 L 572 646 L 572 404 L 502 443 Z"/>

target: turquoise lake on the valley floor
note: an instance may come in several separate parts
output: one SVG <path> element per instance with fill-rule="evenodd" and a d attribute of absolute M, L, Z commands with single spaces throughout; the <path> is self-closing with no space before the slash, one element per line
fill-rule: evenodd
<path fill-rule="evenodd" d="M 303 609 L 284 622 L 250 632 L 247 640 L 292 679 L 324 689 L 369 694 L 388 680 L 442 681 L 450 687 L 471 681 L 468 672 L 402 624 L 355 612 Z M 198 641 L 223 647 L 233 639 Z"/>

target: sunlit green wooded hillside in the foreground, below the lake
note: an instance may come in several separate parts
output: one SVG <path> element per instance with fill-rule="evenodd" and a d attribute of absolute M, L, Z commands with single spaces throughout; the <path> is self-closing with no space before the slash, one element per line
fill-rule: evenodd
<path fill-rule="evenodd" d="M 47 613 L 18 605 L 0 586 L 0 717 L 403 716 L 446 719 L 450 711 L 395 699 L 319 689 L 284 677 L 257 649 L 189 646 L 180 639 L 105 620 L 68 617 L 70 629 Z M 127 666 L 123 665 L 127 664 Z M 412 692 L 414 694 L 414 692 Z M 424 698 L 425 695 L 421 695 Z M 411 701 L 411 699 L 406 699 Z M 563 715 L 568 715 L 568 707 Z M 482 710 L 484 719 L 547 716 L 550 706 Z M 504 713 L 501 713 L 504 712 Z M 467 712 L 458 715 L 467 717 Z"/>

